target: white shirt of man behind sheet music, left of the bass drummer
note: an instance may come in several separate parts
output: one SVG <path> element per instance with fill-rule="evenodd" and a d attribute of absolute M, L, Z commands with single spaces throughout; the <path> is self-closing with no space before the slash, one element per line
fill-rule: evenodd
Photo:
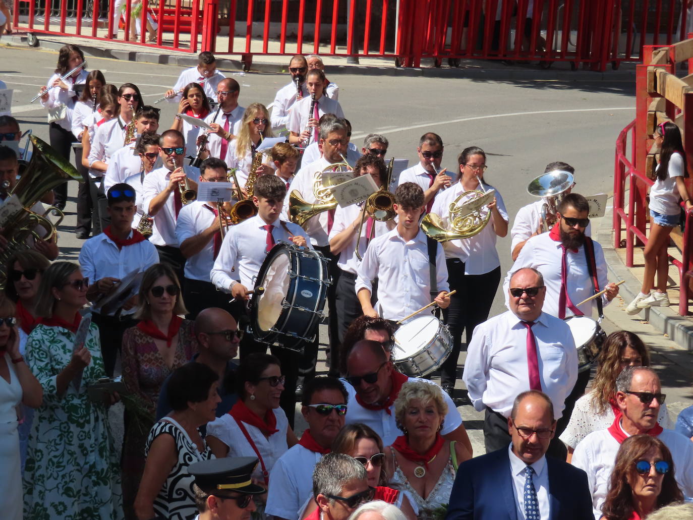
<path fill-rule="evenodd" d="M 175 224 L 175 236 L 178 247 L 187 239 L 202 233 L 205 229 L 218 222 L 213 208 L 202 200 L 195 200 L 181 208 Z M 211 281 L 209 272 L 214 265 L 214 237 L 198 254 L 185 261 L 185 277 L 192 280 Z"/>

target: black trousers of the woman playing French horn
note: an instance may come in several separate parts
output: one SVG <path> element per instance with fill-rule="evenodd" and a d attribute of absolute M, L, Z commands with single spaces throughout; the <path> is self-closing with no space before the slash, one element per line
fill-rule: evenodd
<path fill-rule="evenodd" d="M 489 318 L 493 297 L 500 284 L 500 266 L 484 275 L 465 275 L 464 262 L 448 259 L 446 263 L 450 291 L 457 290 L 457 293 L 450 296 L 450 306 L 443 309 L 445 324 L 453 335 L 453 352 L 450 352 L 450 356 L 443 363 L 440 383 L 454 386 L 457 379 L 457 358 L 462 348 L 462 331 L 466 332 L 466 348 L 472 338 L 474 327 Z"/>

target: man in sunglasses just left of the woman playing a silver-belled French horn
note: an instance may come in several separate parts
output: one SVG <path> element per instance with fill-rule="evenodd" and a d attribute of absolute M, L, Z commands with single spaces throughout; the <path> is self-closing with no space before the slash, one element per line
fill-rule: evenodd
<path fill-rule="evenodd" d="M 414 182 L 423 189 L 423 202 L 428 213 L 433 205 L 436 194 L 441 189 L 450 186 L 452 179 L 446 168 L 441 169 L 443 160 L 443 139 L 433 132 L 426 132 L 419 139 L 419 164 L 407 168 L 399 176 L 399 184 Z"/>

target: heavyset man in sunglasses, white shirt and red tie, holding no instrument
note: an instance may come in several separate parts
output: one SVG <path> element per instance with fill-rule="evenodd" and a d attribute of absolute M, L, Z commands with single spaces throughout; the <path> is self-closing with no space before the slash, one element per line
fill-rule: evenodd
<path fill-rule="evenodd" d="M 475 410 L 484 412 L 486 453 L 507 447 L 508 417 L 515 397 L 541 390 L 563 415 L 577 380 L 577 350 L 570 327 L 543 311 L 547 288 L 541 272 L 520 268 L 510 276 L 509 311 L 477 325 L 467 347 L 462 381 Z M 565 460 L 557 436 L 548 452 Z"/>

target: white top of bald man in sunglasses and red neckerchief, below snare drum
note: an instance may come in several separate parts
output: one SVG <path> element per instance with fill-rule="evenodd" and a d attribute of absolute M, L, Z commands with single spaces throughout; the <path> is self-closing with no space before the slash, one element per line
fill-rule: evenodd
<path fill-rule="evenodd" d="M 383 446 L 389 446 L 394 442 L 394 440 L 402 435 L 402 432 L 397 428 L 395 417 L 394 417 L 394 404 L 389 407 L 389 413 L 387 410 L 369 410 L 363 408 L 356 400 L 356 390 L 353 386 L 349 384 L 346 379 L 340 379 L 344 388 L 347 389 L 349 393 L 349 400 L 347 401 L 347 415 L 344 419 L 344 424 L 355 424 L 357 422 L 362 422 L 367 426 L 373 428 L 373 430 L 380 435 L 380 439 L 383 440 Z M 462 417 L 460 417 L 457 407 L 450 399 L 450 396 L 443 392 L 437 383 L 430 381 L 429 379 L 422 379 L 421 377 L 410 377 L 407 382 L 421 382 L 428 383 L 430 385 L 436 385 L 439 392 L 443 395 L 445 404 L 448 405 L 448 413 L 445 416 L 443 422 L 443 428 L 441 429 L 441 435 L 447 435 L 448 433 L 455 431 L 462 424 Z"/>

